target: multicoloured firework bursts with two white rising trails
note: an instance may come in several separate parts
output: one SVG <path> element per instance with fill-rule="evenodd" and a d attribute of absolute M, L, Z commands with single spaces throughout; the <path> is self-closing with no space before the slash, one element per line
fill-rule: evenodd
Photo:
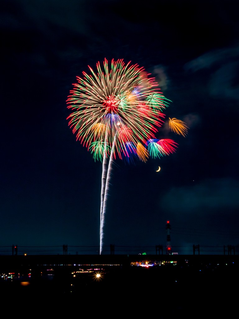
<path fill-rule="evenodd" d="M 156 139 L 158 128 L 164 123 L 162 113 L 169 101 L 160 92 L 154 78 L 148 78 L 138 64 L 130 65 L 123 59 L 105 59 L 103 69 L 98 62 L 97 72 L 91 67 L 90 75 L 83 78 L 70 91 L 67 108 L 73 112 L 67 117 L 76 140 L 102 162 L 100 203 L 100 254 L 103 251 L 106 201 L 112 163 L 120 159 L 138 158 L 146 162 L 148 157 L 160 158 L 175 152 L 177 143 L 170 139 Z M 170 119 L 170 129 L 176 134 L 187 134 L 184 122 Z M 147 150 L 148 148 L 148 150 Z"/>

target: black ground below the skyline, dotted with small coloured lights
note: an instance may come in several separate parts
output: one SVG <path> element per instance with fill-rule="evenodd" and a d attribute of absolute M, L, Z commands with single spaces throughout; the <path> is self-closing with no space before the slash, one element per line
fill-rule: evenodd
<path fill-rule="evenodd" d="M 2 302 L 11 313 L 42 316 L 98 311 L 102 299 L 120 315 L 234 314 L 239 256 L 0 256 Z M 176 260 L 173 261 L 174 258 Z M 156 261 L 141 267 L 131 262 Z M 162 261 L 158 263 L 157 261 Z M 165 262 L 169 261 L 169 263 Z M 139 264 L 139 263 L 138 263 Z M 10 272 L 10 273 L 9 273 Z M 94 305 L 97 305 L 94 308 Z M 36 310 L 37 309 L 37 310 Z"/>

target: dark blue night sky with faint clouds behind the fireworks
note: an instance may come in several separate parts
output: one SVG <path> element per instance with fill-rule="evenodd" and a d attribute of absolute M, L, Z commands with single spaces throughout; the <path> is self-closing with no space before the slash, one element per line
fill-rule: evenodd
<path fill-rule="evenodd" d="M 115 161 L 105 253 L 166 247 L 167 220 L 173 252 L 239 251 L 238 9 L 230 0 L 1 2 L 0 254 L 12 244 L 99 253 L 102 164 L 76 141 L 66 100 L 76 76 L 105 58 L 156 78 L 172 101 L 157 137 L 178 143 L 161 159 Z M 187 137 L 169 117 L 187 123 Z"/>

